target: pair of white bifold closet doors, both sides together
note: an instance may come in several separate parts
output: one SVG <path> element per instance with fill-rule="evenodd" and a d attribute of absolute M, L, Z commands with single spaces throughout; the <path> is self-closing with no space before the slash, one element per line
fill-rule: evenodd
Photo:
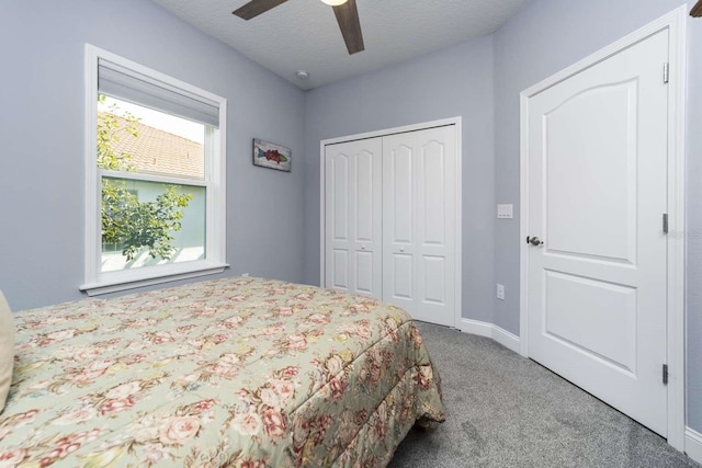
<path fill-rule="evenodd" d="M 455 126 L 327 145 L 325 284 L 455 324 Z"/>

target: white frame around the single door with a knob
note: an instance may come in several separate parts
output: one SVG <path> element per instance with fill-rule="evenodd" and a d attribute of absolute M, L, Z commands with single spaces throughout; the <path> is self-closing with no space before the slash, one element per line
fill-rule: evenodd
<path fill-rule="evenodd" d="M 683 4 L 620 41 L 520 93 L 520 353 L 529 357 L 529 100 L 660 31 L 669 32 L 667 364 L 668 444 L 684 449 L 684 87 L 687 7 Z M 661 67 L 661 79 L 663 79 Z"/>

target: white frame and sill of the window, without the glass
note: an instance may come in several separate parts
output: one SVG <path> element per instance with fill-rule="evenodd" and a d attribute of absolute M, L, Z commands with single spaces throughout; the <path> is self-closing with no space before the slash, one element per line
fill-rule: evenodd
<path fill-rule="evenodd" d="M 205 145 L 205 180 L 189 181 L 189 185 L 206 189 L 205 215 L 205 259 L 189 262 L 167 263 L 154 266 L 141 266 L 134 270 L 114 272 L 101 271 L 102 235 L 100 217 L 100 194 L 102 178 L 116 175 L 124 178 L 124 172 L 105 171 L 97 164 L 98 132 L 98 64 L 99 60 L 116 64 L 125 70 L 146 76 L 165 83 L 170 89 L 182 90 L 190 96 L 202 98 L 204 102 L 216 103 L 219 110 L 218 136 L 207 132 L 206 139 L 217 138 L 219 145 Z M 86 283 L 80 290 L 89 296 L 132 289 L 178 279 L 193 278 L 203 275 L 222 273 L 229 265 L 226 263 L 226 116 L 227 100 L 208 91 L 188 84 L 176 78 L 136 64 L 124 57 L 86 44 Z M 168 182 L 173 180 L 162 175 L 129 174 L 128 179 Z M 182 181 L 178 181 L 181 183 Z"/>

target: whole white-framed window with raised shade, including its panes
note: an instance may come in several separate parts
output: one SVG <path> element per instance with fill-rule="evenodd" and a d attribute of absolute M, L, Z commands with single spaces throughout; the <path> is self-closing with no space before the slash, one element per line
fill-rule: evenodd
<path fill-rule="evenodd" d="M 86 46 L 90 295 L 219 273 L 226 100 Z"/>

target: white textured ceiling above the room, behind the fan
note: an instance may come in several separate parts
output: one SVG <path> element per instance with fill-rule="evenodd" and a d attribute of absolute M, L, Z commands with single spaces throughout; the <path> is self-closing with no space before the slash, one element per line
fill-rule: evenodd
<path fill-rule="evenodd" d="M 249 21 L 231 14 L 248 0 L 152 1 L 304 90 L 490 34 L 524 3 L 356 0 L 365 50 L 349 56 L 333 10 L 320 0 L 288 0 Z"/>

